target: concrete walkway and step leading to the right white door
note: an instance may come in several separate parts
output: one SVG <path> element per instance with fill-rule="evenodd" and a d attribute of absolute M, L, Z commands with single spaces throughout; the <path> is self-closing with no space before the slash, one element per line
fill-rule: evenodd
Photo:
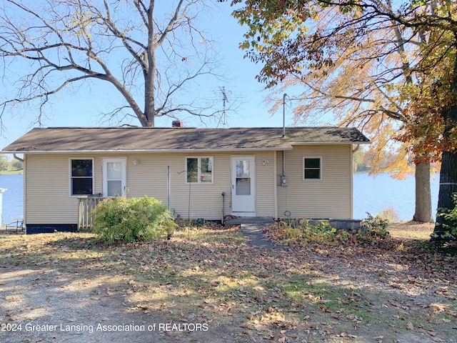
<path fill-rule="evenodd" d="M 266 217 L 239 217 L 224 222 L 226 225 L 241 225 L 241 232 L 248 239 L 248 245 L 252 247 L 266 247 L 271 249 L 284 248 L 283 245 L 276 245 L 265 237 L 262 228 L 273 224 L 273 218 Z"/>

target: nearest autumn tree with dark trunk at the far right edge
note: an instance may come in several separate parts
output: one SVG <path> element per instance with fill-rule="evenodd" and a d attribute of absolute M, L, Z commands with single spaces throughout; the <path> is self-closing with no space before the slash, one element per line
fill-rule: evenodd
<path fill-rule="evenodd" d="M 453 173 L 457 170 L 453 150 L 457 121 L 453 99 L 457 89 L 456 7 L 446 0 L 413 0 L 397 4 L 395 9 L 390 0 L 246 0 L 233 15 L 248 28 L 241 48 L 246 49 L 248 58 L 263 64 L 257 77 L 268 87 L 290 76 L 304 84 L 311 80 L 306 85 L 315 92 L 313 101 L 318 102 L 319 97 L 324 98 L 319 94 L 319 82 L 335 86 L 329 71 L 344 69 L 345 65 L 357 70 L 348 69 L 343 75 L 347 84 L 336 84 L 344 91 L 349 85 L 350 92 L 337 94 L 335 109 L 343 109 L 345 102 L 355 99 L 353 104 L 361 115 L 350 115 L 346 122 L 358 121 L 368 127 L 367 119 L 375 114 L 398 120 L 401 126 L 397 124 L 391 138 L 408 144 L 417 161 L 443 156 L 438 207 L 449 209 L 453 207 L 451 194 L 457 191 L 457 175 Z M 385 38 L 381 33 L 386 30 L 393 35 Z M 448 68 L 442 61 L 448 61 Z M 433 72 L 431 66 L 439 71 Z M 366 79 L 358 77 L 358 69 L 361 74 L 376 71 L 378 81 L 373 87 L 368 88 Z M 430 85 L 441 87 L 436 87 L 440 94 L 431 113 L 421 111 L 431 109 L 427 96 L 413 96 L 425 94 L 426 85 L 428 89 Z M 381 106 L 373 110 L 371 106 L 381 98 Z M 439 226 L 438 222 L 436 229 Z"/>

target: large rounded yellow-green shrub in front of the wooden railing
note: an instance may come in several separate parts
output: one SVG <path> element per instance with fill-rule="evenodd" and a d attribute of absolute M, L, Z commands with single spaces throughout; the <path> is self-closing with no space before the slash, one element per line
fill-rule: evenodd
<path fill-rule="evenodd" d="M 164 239 L 176 228 L 169 209 L 159 200 L 146 196 L 105 199 L 91 216 L 94 233 L 109 243 Z"/>

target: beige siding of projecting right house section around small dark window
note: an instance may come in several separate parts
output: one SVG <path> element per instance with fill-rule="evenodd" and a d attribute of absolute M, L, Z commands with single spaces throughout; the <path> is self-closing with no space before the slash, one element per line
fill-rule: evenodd
<path fill-rule="evenodd" d="M 293 146 L 286 151 L 288 187 L 278 186 L 278 217 L 352 217 L 351 145 Z M 303 180 L 303 157 L 321 157 L 321 180 Z M 283 153 L 277 152 L 277 184 Z M 286 214 L 285 214 L 286 213 Z"/>

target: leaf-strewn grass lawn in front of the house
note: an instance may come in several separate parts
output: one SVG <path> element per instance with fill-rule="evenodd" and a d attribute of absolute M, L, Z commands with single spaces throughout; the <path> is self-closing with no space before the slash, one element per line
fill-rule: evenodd
<path fill-rule="evenodd" d="M 111 247 L 91 234 L 3 235 L 0 265 L 116 275 L 126 309 L 206 323 L 206 342 L 457 342 L 456 257 L 418 239 L 265 249 L 238 227 Z"/>

